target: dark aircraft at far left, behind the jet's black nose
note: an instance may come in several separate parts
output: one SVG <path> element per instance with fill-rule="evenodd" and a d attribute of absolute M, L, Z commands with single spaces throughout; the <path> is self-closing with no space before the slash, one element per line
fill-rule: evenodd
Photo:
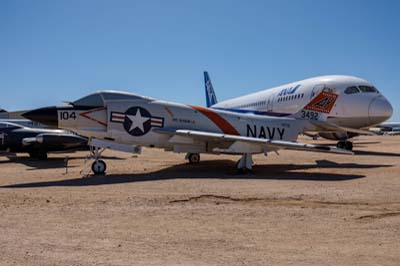
<path fill-rule="evenodd" d="M 47 159 L 48 152 L 87 147 L 87 139 L 65 130 L 24 127 L 0 122 L 0 151 L 26 152 L 31 158 Z"/>

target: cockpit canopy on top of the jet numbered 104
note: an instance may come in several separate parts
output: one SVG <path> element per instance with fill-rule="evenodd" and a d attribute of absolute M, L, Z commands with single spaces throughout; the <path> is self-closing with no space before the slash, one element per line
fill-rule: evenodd
<path fill-rule="evenodd" d="M 113 100 L 152 100 L 151 98 L 120 91 L 99 91 L 80 98 L 73 106 L 103 107 L 105 102 Z"/>

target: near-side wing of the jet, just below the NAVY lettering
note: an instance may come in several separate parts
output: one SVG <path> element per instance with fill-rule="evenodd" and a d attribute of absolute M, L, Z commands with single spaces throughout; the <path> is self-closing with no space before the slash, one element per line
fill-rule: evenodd
<path fill-rule="evenodd" d="M 171 137 L 180 136 L 194 140 L 213 141 L 216 143 L 231 143 L 228 148 L 216 149 L 221 153 L 255 153 L 255 151 L 277 151 L 279 149 L 310 151 L 310 152 L 326 152 L 339 154 L 353 154 L 351 151 L 339 149 L 333 146 L 307 144 L 282 140 L 259 139 L 246 136 L 236 136 L 223 133 L 213 133 L 196 130 L 184 129 L 157 129 L 156 132 L 161 134 L 169 134 Z"/>

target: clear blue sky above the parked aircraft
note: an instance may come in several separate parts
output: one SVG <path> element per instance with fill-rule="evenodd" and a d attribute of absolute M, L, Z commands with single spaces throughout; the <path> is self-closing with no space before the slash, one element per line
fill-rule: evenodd
<path fill-rule="evenodd" d="M 325 74 L 372 82 L 400 120 L 400 1 L 0 1 L 0 107 L 99 89 L 204 105 Z"/>

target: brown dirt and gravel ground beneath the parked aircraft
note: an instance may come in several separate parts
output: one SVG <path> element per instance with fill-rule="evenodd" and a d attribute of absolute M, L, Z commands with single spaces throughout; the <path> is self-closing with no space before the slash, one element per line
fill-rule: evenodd
<path fill-rule="evenodd" d="M 0 265 L 400 265 L 400 137 L 355 150 L 0 157 Z"/>

